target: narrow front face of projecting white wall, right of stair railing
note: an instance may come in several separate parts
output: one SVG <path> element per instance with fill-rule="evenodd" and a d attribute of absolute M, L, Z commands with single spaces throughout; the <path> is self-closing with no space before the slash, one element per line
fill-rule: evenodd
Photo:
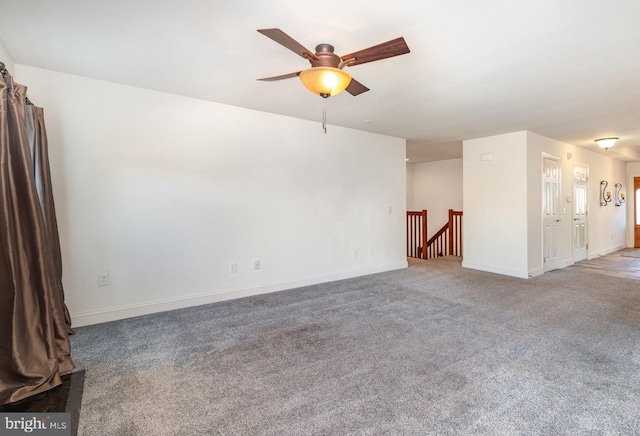
<path fill-rule="evenodd" d="M 464 141 L 466 268 L 528 277 L 526 132 Z"/>

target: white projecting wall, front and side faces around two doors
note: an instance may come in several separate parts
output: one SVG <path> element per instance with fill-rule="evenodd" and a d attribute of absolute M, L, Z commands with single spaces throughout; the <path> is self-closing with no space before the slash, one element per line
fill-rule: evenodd
<path fill-rule="evenodd" d="M 574 263 L 574 163 L 589 167 L 588 258 L 627 246 L 629 203 L 603 207 L 599 201 L 601 180 L 612 192 L 615 183 L 625 185 L 624 162 L 532 132 L 465 141 L 463 152 L 463 266 L 522 278 L 542 274 L 543 153 L 560 158 L 561 266 Z M 493 160 L 480 160 L 482 154 L 492 154 Z M 630 191 L 627 182 L 623 192 Z"/>

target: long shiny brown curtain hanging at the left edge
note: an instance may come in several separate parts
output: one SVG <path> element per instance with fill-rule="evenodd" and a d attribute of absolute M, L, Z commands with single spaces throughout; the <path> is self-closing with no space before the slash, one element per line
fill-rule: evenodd
<path fill-rule="evenodd" d="M 0 63 L 0 404 L 74 368 L 42 108 Z"/>

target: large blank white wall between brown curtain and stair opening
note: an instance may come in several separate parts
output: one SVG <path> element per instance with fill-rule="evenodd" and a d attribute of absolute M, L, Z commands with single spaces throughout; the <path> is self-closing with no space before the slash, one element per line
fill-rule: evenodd
<path fill-rule="evenodd" d="M 402 139 L 19 64 L 16 76 L 45 108 L 75 325 L 407 266 Z"/>

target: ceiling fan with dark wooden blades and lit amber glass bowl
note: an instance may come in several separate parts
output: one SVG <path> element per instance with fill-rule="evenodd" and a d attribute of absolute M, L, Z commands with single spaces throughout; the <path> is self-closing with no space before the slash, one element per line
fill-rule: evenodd
<path fill-rule="evenodd" d="M 311 68 L 306 70 L 258 80 L 271 82 L 299 76 L 309 91 L 323 98 L 339 94 L 344 90 L 353 96 L 369 90 L 362 83 L 352 79 L 343 68 L 400 56 L 410 52 L 403 37 L 344 56 L 338 56 L 334 53 L 334 47 L 331 44 L 318 44 L 316 52 L 313 53 L 280 29 L 258 29 L 258 32 L 302 56 L 311 64 Z"/>

